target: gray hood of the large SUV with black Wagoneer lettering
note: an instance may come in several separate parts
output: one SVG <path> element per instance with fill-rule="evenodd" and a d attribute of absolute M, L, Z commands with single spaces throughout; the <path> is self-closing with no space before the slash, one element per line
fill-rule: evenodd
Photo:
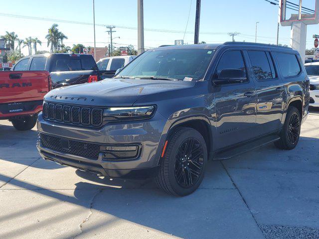
<path fill-rule="evenodd" d="M 50 91 L 46 101 L 84 106 L 132 106 L 146 95 L 190 88 L 195 81 L 108 79 Z"/>

